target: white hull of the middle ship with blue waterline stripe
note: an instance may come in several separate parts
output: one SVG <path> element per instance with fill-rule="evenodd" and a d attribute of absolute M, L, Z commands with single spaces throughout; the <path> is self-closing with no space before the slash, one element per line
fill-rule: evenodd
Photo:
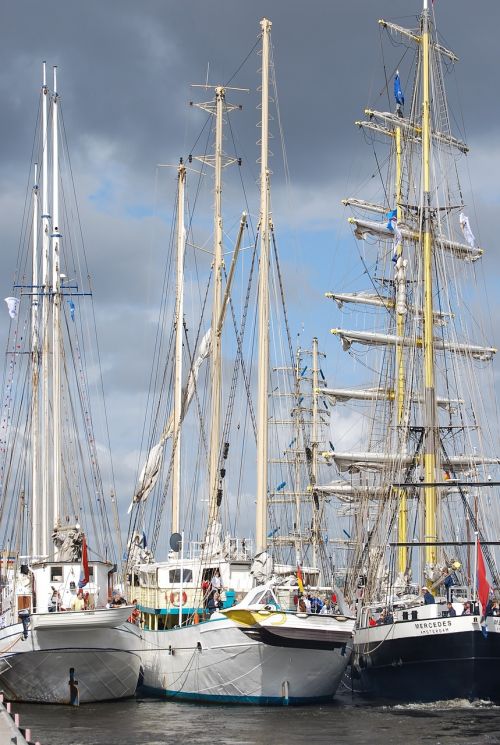
<path fill-rule="evenodd" d="M 191 701 L 288 705 L 330 700 L 349 661 L 346 644 L 281 646 L 221 617 L 170 631 L 144 631 L 148 695 Z"/>

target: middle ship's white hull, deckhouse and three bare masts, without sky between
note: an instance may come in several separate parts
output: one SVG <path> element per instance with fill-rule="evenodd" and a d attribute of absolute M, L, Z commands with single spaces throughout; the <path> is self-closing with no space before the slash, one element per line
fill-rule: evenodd
<path fill-rule="evenodd" d="M 215 155 L 203 156 L 214 167 L 215 218 L 213 274 L 214 292 L 212 323 L 208 336 L 203 337 L 198 356 L 190 365 L 187 383 L 182 387 L 182 333 L 183 333 L 183 278 L 184 228 L 183 204 L 186 166 L 178 168 L 177 194 L 177 282 L 173 415 L 166 418 L 157 443 L 149 452 L 146 465 L 139 479 L 134 497 L 131 522 L 131 553 L 129 560 L 130 592 L 138 598 L 138 608 L 143 616 L 144 681 L 141 691 L 155 696 L 175 697 L 192 701 L 218 701 L 222 703 L 288 705 L 330 700 L 334 695 L 349 659 L 354 619 L 343 613 L 308 614 L 301 612 L 298 602 L 299 589 L 308 581 L 317 584 L 319 570 L 316 566 L 278 566 L 268 552 L 271 543 L 277 545 L 277 528 L 269 530 L 268 523 L 268 428 L 269 428 L 269 266 L 271 263 L 270 170 L 268 165 L 269 122 L 269 67 L 270 30 L 267 19 L 262 29 L 262 98 L 261 98 L 261 178 L 260 178 L 260 260 L 258 278 L 258 403 L 257 415 L 253 408 L 249 417 L 255 424 L 257 450 L 256 531 L 255 548 L 249 539 L 225 538 L 221 535 L 221 503 L 228 457 L 229 440 L 226 423 L 222 428 L 222 365 L 221 336 L 226 310 L 231 303 L 231 281 L 246 223 L 244 214 L 233 253 L 231 268 L 224 295 L 223 279 L 223 227 L 221 214 L 221 173 L 227 160 L 222 150 L 223 114 L 230 105 L 226 102 L 226 88 L 215 88 L 215 101 L 203 108 L 215 115 Z M 191 160 L 191 159 L 190 159 Z M 257 241 L 256 241 L 257 244 Z M 255 256 L 255 254 L 254 254 Z M 252 261 L 255 263 L 255 260 Z M 243 317 L 245 313 L 243 313 Z M 242 323 L 243 326 L 243 323 Z M 173 334 L 173 335 L 174 335 Z M 199 337 L 201 332 L 199 333 Z M 242 368 L 245 389 L 250 385 L 242 361 L 242 328 L 236 334 L 236 367 Z M 210 346 L 206 352 L 207 345 Z M 181 526 L 179 495 L 180 440 L 186 430 L 187 406 L 196 395 L 197 376 L 202 359 L 210 356 L 210 443 L 208 450 L 208 527 L 203 539 L 193 550 L 185 550 L 184 531 Z M 292 357 L 292 369 L 295 370 Z M 318 375 L 317 361 L 315 376 Z M 163 376 L 162 376 L 163 377 Z M 297 377 L 297 376 L 295 376 Z M 300 377 L 300 376 L 299 376 Z M 314 378 L 316 379 L 316 378 Z M 234 378 L 233 378 L 234 382 Z M 236 394 L 229 396 L 234 403 Z M 297 390 L 293 400 L 296 415 L 301 412 Z M 290 399 L 288 399 L 289 404 Z M 298 421 L 295 417 L 294 424 Z M 227 417 L 226 417 L 227 422 Z M 158 483 L 164 458 L 164 445 L 172 440 L 167 479 L 172 481 L 172 537 L 171 555 L 166 562 L 156 562 L 148 556 L 145 531 L 140 529 L 141 509 L 145 499 L 150 499 L 151 489 Z M 313 449 L 317 450 L 315 439 Z M 237 469 L 245 463 L 243 452 Z M 316 456 L 308 463 L 316 463 Z M 164 464 L 165 465 L 165 464 Z M 276 488 L 276 504 L 284 483 Z M 314 486 L 314 484 L 313 484 Z M 314 504 L 313 491 L 307 492 Z M 315 493 L 315 492 L 314 492 Z M 165 495 L 165 486 L 161 490 Z M 288 502 L 290 498 L 287 496 Z M 253 501 L 253 497 L 252 497 Z M 295 503 L 295 497 L 293 497 Z M 318 508 L 319 509 L 319 508 Z M 154 511 L 155 529 L 159 530 L 158 512 Z M 316 514 L 316 513 L 315 513 Z M 317 516 L 317 515 L 316 515 Z M 318 522 L 314 522 L 315 545 Z M 300 525 L 295 524 L 291 543 L 299 541 Z M 288 540 L 288 539 L 287 539 Z M 188 544 L 189 545 L 189 544 Z M 155 549 L 157 543 L 153 542 Z M 197 548 L 197 550 L 196 550 Z M 215 570 L 220 570 L 220 580 Z M 203 585 L 224 588 L 225 599 L 218 608 L 209 606 L 210 597 L 203 597 Z M 217 593 L 219 595 L 219 593 Z M 212 596 L 213 597 L 213 596 Z"/>

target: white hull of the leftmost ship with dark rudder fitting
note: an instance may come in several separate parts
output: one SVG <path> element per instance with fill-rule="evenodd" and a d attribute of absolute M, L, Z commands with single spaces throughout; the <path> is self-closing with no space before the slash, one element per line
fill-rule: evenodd
<path fill-rule="evenodd" d="M 69 615 L 69 614 L 68 614 Z M 140 629 L 79 627 L 0 632 L 0 687 L 7 698 L 47 704 L 72 702 L 70 670 L 79 703 L 133 696 L 141 669 Z"/>

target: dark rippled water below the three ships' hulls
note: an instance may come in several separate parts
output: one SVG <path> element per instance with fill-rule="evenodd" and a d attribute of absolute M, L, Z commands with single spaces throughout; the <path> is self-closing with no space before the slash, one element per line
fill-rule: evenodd
<path fill-rule="evenodd" d="M 344 695 L 288 709 L 152 699 L 14 708 L 42 745 L 500 745 L 500 707 L 487 701 L 382 706 Z"/>

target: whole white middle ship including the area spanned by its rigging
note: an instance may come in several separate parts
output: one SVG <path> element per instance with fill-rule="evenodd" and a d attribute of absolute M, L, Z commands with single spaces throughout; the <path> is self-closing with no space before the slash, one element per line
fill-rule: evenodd
<path fill-rule="evenodd" d="M 288 334 L 279 342 L 285 345 L 286 362 L 274 368 L 270 364 L 269 334 L 276 328 L 270 296 L 284 295 L 270 202 L 270 31 L 270 21 L 263 19 L 257 234 L 248 246 L 246 210 L 232 252 L 222 222 L 221 176 L 224 167 L 238 160 L 223 149 L 223 124 L 236 108 L 226 95 L 234 89 L 215 86 L 214 99 L 199 104 L 214 122 L 214 153 L 199 156 L 199 161 L 213 168 L 215 197 L 211 323 L 207 331 L 202 322 L 194 344 L 187 341 L 185 328 L 183 271 L 186 247 L 196 244 L 192 215 L 185 217 L 184 212 L 189 204 L 184 186 L 195 156 L 181 162 L 177 171 L 173 366 L 171 372 L 154 375 L 155 380 L 172 381 L 172 387 L 167 386 L 152 408 L 159 410 L 166 403 L 169 390 L 171 405 L 165 407 L 159 429 L 148 440 L 146 463 L 131 505 L 128 563 L 129 593 L 137 598 L 142 614 L 141 691 L 166 698 L 270 705 L 330 700 L 347 666 L 354 629 L 353 617 L 337 605 L 330 608 L 332 576 L 322 562 L 324 503 L 315 490 L 321 411 L 318 395 L 312 392 L 313 387 L 322 388 L 317 342 L 294 353 Z M 197 183 L 197 172 L 194 179 Z M 235 277 L 243 275 L 244 251 L 251 254 L 246 260 L 250 278 L 246 286 L 238 287 L 241 279 Z M 225 257 L 231 253 L 226 272 Z M 201 293 L 202 298 L 207 296 L 208 291 Z M 243 298 L 241 309 L 235 305 L 237 297 Z M 247 315 L 255 341 L 253 330 L 244 333 Z M 226 320 L 234 331 L 235 361 L 230 385 L 224 388 L 223 340 L 226 348 L 230 346 Z M 274 333 L 276 341 L 279 336 Z M 192 350 L 191 359 L 183 369 L 187 348 Z M 256 383 L 252 370 L 257 373 Z M 204 375 L 207 394 L 201 385 Z M 304 386 L 309 386 L 309 393 L 302 392 Z M 279 404 L 271 412 L 272 394 Z M 195 446 L 190 416 L 199 416 L 203 407 L 208 422 L 196 423 L 201 444 Z M 282 428 L 281 436 L 275 425 Z M 244 430 L 251 446 L 242 440 Z M 277 455 L 272 455 L 274 441 L 280 443 Z M 270 475 L 270 463 L 281 469 L 279 480 Z M 305 474 L 306 481 L 298 474 Z M 206 481 L 202 482 L 202 475 Z M 194 499 L 189 479 L 196 484 Z M 238 482 L 240 490 L 242 482 L 245 486 L 242 494 L 235 495 L 232 489 L 237 491 Z M 171 496 L 170 553 L 165 561 L 156 561 L 167 493 Z M 231 505 L 232 499 L 236 503 Z M 206 523 L 200 526 L 193 516 L 203 513 L 204 503 Z M 306 519 L 302 510 L 307 511 Z M 236 525 L 238 512 L 239 524 L 249 532 L 255 520 L 251 539 L 222 531 L 223 522 Z M 184 527 L 189 523 L 190 530 Z M 307 607 L 308 594 L 316 596 L 318 612 Z M 328 612 L 320 613 L 319 603 Z"/>

